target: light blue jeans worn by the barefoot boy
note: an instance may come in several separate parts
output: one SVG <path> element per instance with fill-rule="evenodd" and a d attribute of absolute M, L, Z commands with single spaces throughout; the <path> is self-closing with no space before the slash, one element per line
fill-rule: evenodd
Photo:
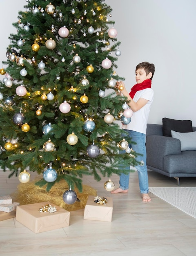
<path fill-rule="evenodd" d="M 138 179 L 139 179 L 139 187 L 140 187 L 140 193 L 147 194 L 148 193 L 148 173 L 147 173 L 147 166 L 146 166 L 146 135 L 144 133 L 135 132 L 132 130 L 125 130 L 129 133 L 129 135 L 122 134 L 122 137 L 124 136 L 126 140 L 126 136 L 130 137 L 132 141 L 135 141 L 136 145 L 129 145 L 130 148 L 132 148 L 136 153 L 140 153 L 142 155 L 138 155 L 136 158 L 138 162 L 141 162 L 143 164 L 136 165 L 136 169 L 138 171 Z M 125 150 L 120 150 L 119 154 L 125 153 Z M 126 167 L 127 169 L 130 169 L 130 166 Z M 129 188 L 129 174 L 125 175 L 121 173 L 120 175 L 120 189 L 126 190 Z"/>

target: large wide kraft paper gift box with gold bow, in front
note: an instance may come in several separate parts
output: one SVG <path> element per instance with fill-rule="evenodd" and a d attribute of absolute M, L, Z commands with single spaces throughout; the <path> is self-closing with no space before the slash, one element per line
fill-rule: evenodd
<path fill-rule="evenodd" d="M 40 212 L 40 208 L 51 204 L 56 207 L 56 212 Z M 17 206 L 16 220 L 35 233 L 69 226 L 70 212 L 50 202 L 26 204 Z"/>

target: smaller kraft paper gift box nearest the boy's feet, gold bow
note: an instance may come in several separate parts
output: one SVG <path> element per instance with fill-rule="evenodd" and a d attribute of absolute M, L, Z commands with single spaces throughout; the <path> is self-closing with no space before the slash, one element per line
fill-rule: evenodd
<path fill-rule="evenodd" d="M 85 205 L 84 219 L 111 221 L 113 211 L 112 198 L 107 198 L 106 204 L 97 204 L 94 202 L 94 198 L 93 195 L 88 197 L 87 204 Z"/>

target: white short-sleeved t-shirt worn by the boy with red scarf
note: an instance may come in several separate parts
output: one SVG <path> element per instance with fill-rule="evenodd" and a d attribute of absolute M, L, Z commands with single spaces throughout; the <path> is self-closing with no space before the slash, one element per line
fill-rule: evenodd
<path fill-rule="evenodd" d="M 150 112 L 150 106 L 154 98 L 154 91 L 151 88 L 137 91 L 133 100 L 137 102 L 140 98 L 147 99 L 148 102 L 145 106 L 140 108 L 140 110 L 134 112 L 131 117 L 131 122 L 129 124 L 122 125 L 122 128 L 146 134 L 147 121 Z"/>

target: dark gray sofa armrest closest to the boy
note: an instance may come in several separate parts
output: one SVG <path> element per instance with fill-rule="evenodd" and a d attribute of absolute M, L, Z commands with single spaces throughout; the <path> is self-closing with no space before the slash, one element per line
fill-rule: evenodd
<path fill-rule="evenodd" d="M 181 154 L 179 139 L 160 135 L 146 137 L 147 166 L 164 170 L 163 159 L 166 155 Z"/>

